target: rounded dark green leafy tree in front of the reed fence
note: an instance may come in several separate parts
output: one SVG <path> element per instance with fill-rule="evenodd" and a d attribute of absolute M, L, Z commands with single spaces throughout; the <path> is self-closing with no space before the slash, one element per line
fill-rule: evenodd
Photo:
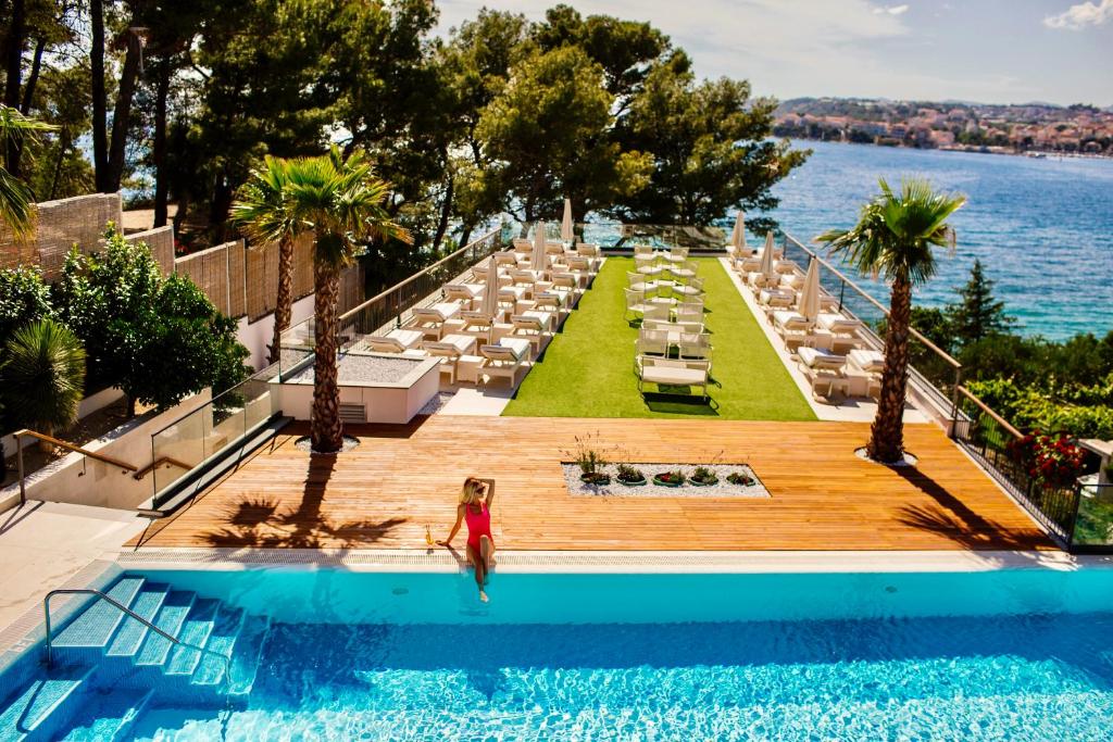
<path fill-rule="evenodd" d="M 164 280 L 150 249 L 115 228 L 100 254 L 70 253 L 55 306 L 85 343 L 90 387 L 122 389 L 129 415 L 137 402 L 168 407 L 229 374 L 243 377 L 235 323 L 188 278 Z"/>

